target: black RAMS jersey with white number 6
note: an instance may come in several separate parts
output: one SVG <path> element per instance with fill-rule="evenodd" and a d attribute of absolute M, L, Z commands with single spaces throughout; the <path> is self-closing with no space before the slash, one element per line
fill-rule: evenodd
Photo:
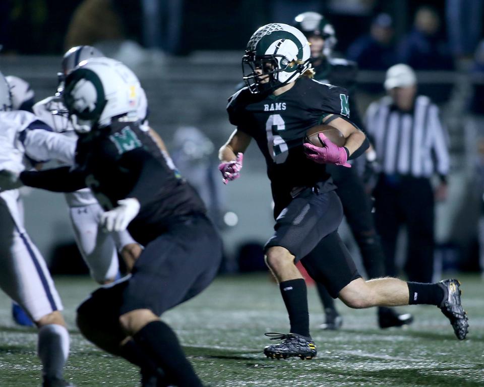
<path fill-rule="evenodd" d="M 256 140 L 266 159 L 276 215 L 290 202 L 293 188 L 325 182 L 318 185 L 334 189 L 325 165 L 309 160 L 302 143 L 306 131 L 327 114 L 349 116 L 345 89 L 306 77 L 279 96 L 243 88 L 229 98 L 227 111 L 230 122 Z"/>

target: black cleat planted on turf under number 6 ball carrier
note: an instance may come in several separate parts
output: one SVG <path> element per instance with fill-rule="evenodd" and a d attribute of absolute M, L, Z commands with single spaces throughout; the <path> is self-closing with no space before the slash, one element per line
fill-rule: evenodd
<path fill-rule="evenodd" d="M 268 345 L 264 348 L 264 355 L 271 359 L 287 359 L 288 357 L 300 357 L 309 360 L 316 356 L 316 344 L 308 337 L 289 333 L 269 332 L 265 334 L 271 340 L 283 340 L 282 343 Z"/>

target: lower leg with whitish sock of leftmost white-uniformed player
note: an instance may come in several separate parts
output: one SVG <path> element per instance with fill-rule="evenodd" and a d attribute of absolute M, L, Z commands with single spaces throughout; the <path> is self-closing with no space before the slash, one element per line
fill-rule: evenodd
<path fill-rule="evenodd" d="M 39 329 L 38 355 L 42 363 L 43 387 L 69 387 L 63 369 L 69 355 L 69 333 L 64 317 L 58 310 L 35 321 Z"/>

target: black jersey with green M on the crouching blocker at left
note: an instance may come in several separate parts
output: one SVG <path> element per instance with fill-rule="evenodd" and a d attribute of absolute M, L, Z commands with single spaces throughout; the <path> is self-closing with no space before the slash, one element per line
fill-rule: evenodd
<path fill-rule="evenodd" d="M 180 217 L 205 213 L 198 193 L 137 122 L 115 122 L 80 135 L 75 160 L 73 169 L 25 172 L 22 181 L 54 191 L 88 186 L 104 210 L 116 207 L 118 200 L 136 198 L 140 212 L 128 229 L 141 244 Z"/>

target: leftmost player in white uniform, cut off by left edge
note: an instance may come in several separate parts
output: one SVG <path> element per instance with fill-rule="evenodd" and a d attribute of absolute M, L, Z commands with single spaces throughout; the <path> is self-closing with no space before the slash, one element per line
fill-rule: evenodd
<path fill-rule="evenodd" d="M 21 172 L 49 158 L 72 162 L 76 142 L 52 133 L 27 111 L 12 110 L 9 85 L 0 73 L 0 169 Z M 61 299 L 45 261 L 24 228 L 19 190 L 0 186 L 0 288 L 18 302 L 39 329 L 42 386 L 72 386 L 63 378 L 69 334 Z"/>

